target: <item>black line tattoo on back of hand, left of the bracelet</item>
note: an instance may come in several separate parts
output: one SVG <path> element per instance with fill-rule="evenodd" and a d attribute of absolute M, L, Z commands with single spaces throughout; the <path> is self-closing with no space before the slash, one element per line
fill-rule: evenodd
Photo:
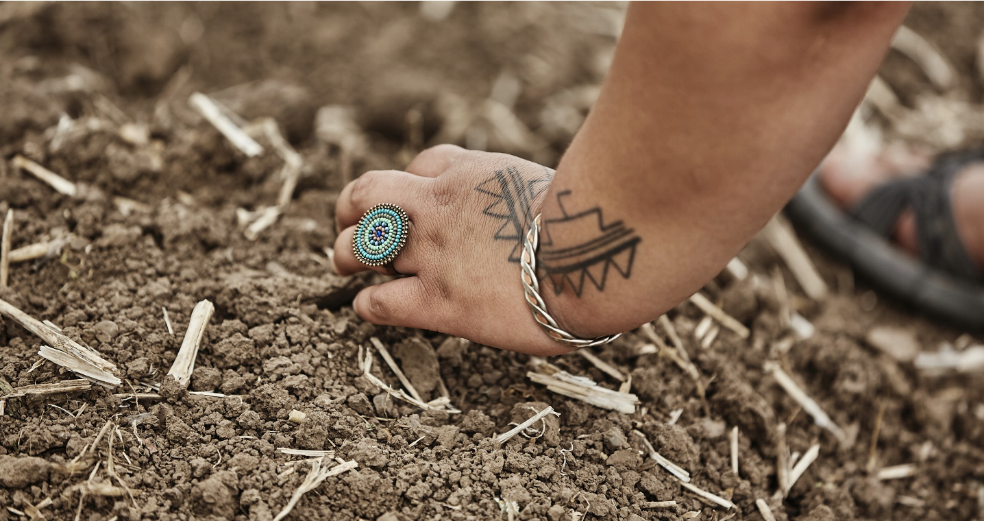
<path fill-rule="evenodd" d="M 550 186 L 552 178 L 553 170 L 550 168 L 543 168 L 543 175 L 525 178 L 520 170 L 509 166 L 505 171 L 496 170 L 495 175 L 475 187 L 475 190 L 493 197 L 493 201 L 482 213 L 503 220 L 502 227 L 493 237 L 513 244 L 509 262 L 520 262 L 523 235 L 533 218 L 529 205 Z"/>

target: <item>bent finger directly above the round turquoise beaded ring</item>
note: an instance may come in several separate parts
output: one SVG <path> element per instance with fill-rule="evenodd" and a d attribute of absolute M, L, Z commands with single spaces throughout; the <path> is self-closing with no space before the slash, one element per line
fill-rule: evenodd
<path fill-rule="evenodd" d="M 425 177 L 400 170 L 370 170 L 348 183 L 338 195 L 335 206 L 335 228 L 341 230 L 358 223 L 373 205 L 392 203 L 414 215 L 413 203 L 419 199 Z"/>

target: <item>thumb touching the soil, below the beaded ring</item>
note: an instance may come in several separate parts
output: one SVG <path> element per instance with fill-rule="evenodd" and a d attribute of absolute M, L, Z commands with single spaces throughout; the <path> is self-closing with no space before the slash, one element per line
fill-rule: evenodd
<path fill-rule="evenodd" d="M 406 277 L 363 289 L 352 307 L 374 324 L 433 330 L 444 320 L 445 302 L 419 277 Z"/>

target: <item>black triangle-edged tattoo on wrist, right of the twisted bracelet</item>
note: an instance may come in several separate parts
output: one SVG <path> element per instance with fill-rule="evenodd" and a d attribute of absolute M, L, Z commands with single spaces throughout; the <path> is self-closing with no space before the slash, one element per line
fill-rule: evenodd
<path fill-rule="evenodd" d="M 632 276 L 636 260 L 636 246 L 643 239 L 621 221 L 605 224 L 598 207 L 584 212 L 571 213 L 564 206 L 570 190 L 557 194 L 557 204 L 562 217 L 542 223 L 540 250 L 537 254 L 539 269 L 553 283 L 554 293 L 560 294 L 570 287 L 578 296 L 584 293 L 584 282 L 590 281 L 599 292 L 605 290 L 608 271 L 613 268 L 623 279 Z M 571 231 L 561 231 L 565 228 Z M 551 233 L 564 237 L 583 236 L 584 229 L 593 231 L 577 244 L 555 243 Z"/>

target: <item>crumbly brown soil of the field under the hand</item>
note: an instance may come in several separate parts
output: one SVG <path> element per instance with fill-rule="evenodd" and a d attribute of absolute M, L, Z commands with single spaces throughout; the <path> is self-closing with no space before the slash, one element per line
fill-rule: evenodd
<path fill-rule="evenodd" d="M 117 393 L 163 379 L 193 306 L 208 298 L 215 316 L 191 389 L 227 395 L 170 389 L 166 401 L 134 403 L 93 388 L 8 399 L 0 519 L 26 519 L 16 512 L 50 498 L 40 510 L 47 519 L 270 520 L 307 473 L 306 464 L 289 473 L 288 462 L 300 458 L 277 447 L 334 449 L 359 464 L 306 494 L 288 519 L 506 519 L 508 501 L 518 505 L 517 519 L 760 519 L 755 500 L 776 487 L 780 422 L 788 423 L 791 451 L 815 441 L 822 449 L 784 501 L 769 500 L 779 520 L 979 517 L 984 386 L 969 376 L 922 375 L 863 340 L 889 325 L 935 350 L 960 332 L 855 286 L 819 251 L 811 250 L 834 289 L 823 303 L 800 292 L 765 244 L 742 254 L 763 280 L 782 277 L 793 308 L 817 326 L 809 340 L 782 330 L 782 300 L 771 284 L 722 277 L 707 287 L 751 327 L 748 341 L 725 330 L 701 349 L 691 335 L 701 313 L 682 306 L 671 314 L 707 384 L 704 399 L 668 358 L 634 355 L 645 335 L 596 350 L 632 374 L 643 404 L 631 416 L 533 384 L 526 356 L 362 322 L 349 303 L 371 279 L 332 275 L 323 254 L 349 172 L 400 167 L 422 144 L 447 136 L 443 122 L 490 95 L 513 105 L 536 146 L 500 136 L 482 118 L 451 137 L 555 162 L 601 80 L 620 16 L 605 6 L 535 3 L 460 4 L 441 22 L 418 12 L 415 4 L 374 3 L 0 4 L 0 216 L 15 210 L 15 248 L 59 232 L 79 237 L 60 255 L 14 265 L 0 298 L 118 364 L 126 383 Z M 961 42 L 976 41 L 970 30 L 982 19 L 980 8 L 964 5 L 917 6 L 911 17 L 911 27 L 953 53 L 976 92 L 974 47 Z M 950 33 L 947 20 L 962 29 Z M 909 68 L 892 56 L 884 74 L 906 86 L 903 94 L 928 89 Z M 503 77 L 506 88 L 493 93 Z M 508 78 L 522 87 L 515 103 L 502 94 Z M 276 202 L 280 160 L 235 152 L 188 107 L 195 91 L 215 93 L 247 119 L 276 118 L 304 158 L 289 210 L 256 241 L 244 238 L 236 209 Z M 314 114 L 329 104 L 354 108 L 366 147 L 345 155 L 319 138 Z M 75 124 L 58 132 L 63 114 Z M 149 143 L 122 139 L 124 123 L 147 125 Z M 59 196 L 6 161 L 17 154 L 103 195 Z M 137 199 L 150 212 L 124 215 L 107 195 Z M 387 400 L 356 360 L 373 336 L 425 399 L 440 392 L 439 371 L 463 413 Z M 815 426 L 764 373 L 783 343 L 782 363 L 847 430 L 848 443 Z M 69 378 L 51 362 L 31 370 L 39 344 L 0 321 L 0 377 L 15 387 Z M 554 361 L 604 386 L 617 383 L 576 355 Z M 399 386 L 379 363 L 374 371 Z M 562 416 L 545 423 L 542 437 L 495 442 L 509 423 L 546 405 Z M 303 423 L 287 421 L 292 409 L 306 413 Z M 915 476 L 875 480 L 868 461 L 879 418 L 874 468 L 915 463 Z M 113 443 L 103 438 L 67 466 L 110 420 L 120 425 Z M 737 475 L 729 470 L 734 425 Z M 698 499 L 644 460 L 632 429 L 737 510 Z M 94 481 L 110 484 L 110 455 L 133 500 L 89 494 L 80 502 L 95 465 Z M 656 500 L 677 506 L 644 508 Z"/>

